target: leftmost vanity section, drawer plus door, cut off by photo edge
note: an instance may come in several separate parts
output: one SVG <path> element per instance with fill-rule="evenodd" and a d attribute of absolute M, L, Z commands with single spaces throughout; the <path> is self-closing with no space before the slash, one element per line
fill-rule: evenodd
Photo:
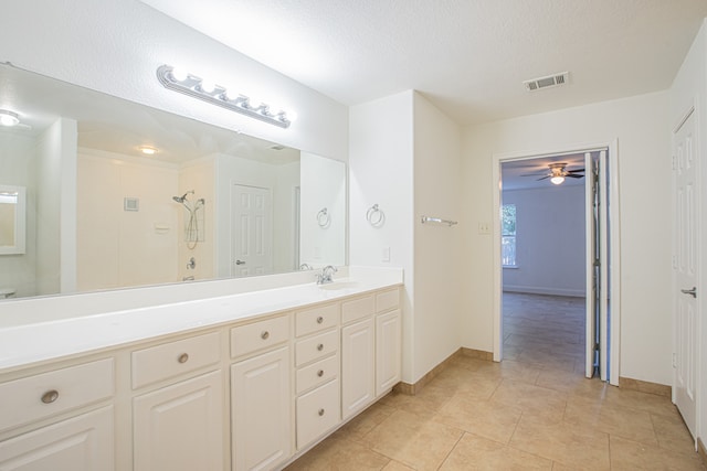
<path fill-rule="evenodd" d="M 104 358 L 0 384 L 0 431 L 31 429 L 0 441 L 0 469 L 113 470 L 113 370 Z"/>

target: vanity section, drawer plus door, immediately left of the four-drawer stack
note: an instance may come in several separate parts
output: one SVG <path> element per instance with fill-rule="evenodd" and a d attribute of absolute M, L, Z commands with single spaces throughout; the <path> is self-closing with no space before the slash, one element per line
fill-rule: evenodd
<path fill-rule="evenodd" d="M 231 329 L 234 471 L 270 470 L 292 456 L 289 317 Z"/>

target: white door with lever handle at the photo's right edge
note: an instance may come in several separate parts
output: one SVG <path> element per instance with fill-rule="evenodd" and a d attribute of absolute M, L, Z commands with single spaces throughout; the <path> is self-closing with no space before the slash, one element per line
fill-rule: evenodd
<path fill-rule="evenodd" d="M 695 114 L 673 136 L 674 402 L 695 436 L 697 373 L 697 188 Z"/>

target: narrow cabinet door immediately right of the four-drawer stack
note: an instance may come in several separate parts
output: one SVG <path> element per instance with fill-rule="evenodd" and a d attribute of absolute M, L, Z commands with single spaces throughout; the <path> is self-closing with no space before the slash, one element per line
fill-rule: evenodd
<path fill-rule="evenodd" d="M 373 400 L 374 325 L 367 319 L 341 329 L 341 416 L 344 419 Z"/>

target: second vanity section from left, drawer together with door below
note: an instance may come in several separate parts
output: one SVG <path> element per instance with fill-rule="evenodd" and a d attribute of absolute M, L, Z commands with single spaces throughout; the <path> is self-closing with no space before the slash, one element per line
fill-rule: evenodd
<path fill-rule="evenodd" d="M 161 386 L 133 398 L 135 471 L 224 468 L 220 357 L 219 332 L 133 352 L 133 387 Z"/>

